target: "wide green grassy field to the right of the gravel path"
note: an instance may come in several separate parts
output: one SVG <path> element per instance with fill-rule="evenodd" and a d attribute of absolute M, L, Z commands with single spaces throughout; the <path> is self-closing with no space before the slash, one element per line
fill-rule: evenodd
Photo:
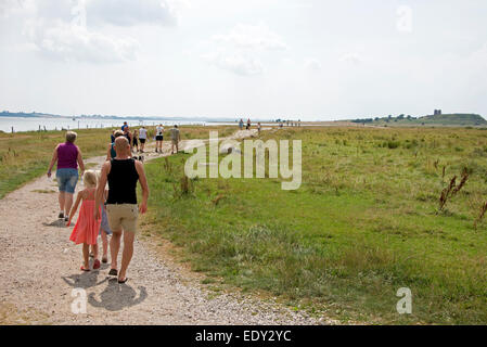
<path fill-rule="evenodd" d="M 214 287 L 279 296 L 293 307 L 374 323 L 487 323 L 487 131 L 291 128 L 303 185 L 195 179 L 189 154 L 146 164 L 144 229 L 170 240 Z M 220 159 L 221 159 L 220 155 Z M 439 211 L 450 179 L 466 184 Z M 412 314 L 396 293 L 412 292 Z"/>

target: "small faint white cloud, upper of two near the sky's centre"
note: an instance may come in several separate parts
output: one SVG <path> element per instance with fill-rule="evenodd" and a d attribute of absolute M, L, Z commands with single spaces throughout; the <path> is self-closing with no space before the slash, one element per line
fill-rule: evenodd
<path fill-rule="evenodd" d="M 284 50 L 287 46 L 283 39 L 271 31 L 265 24 L 236 25 L 229 34 L 215 35 L 216 42 L 231 43 L 238 48 Z"/>

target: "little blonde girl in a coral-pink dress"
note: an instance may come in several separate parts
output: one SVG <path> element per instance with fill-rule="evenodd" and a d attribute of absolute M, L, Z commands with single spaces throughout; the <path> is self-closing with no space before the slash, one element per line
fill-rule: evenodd
<path fill-rule="evenodd" d="M 97 191 L 97 172 L 88 170 L 82 176 L 85 189 L 78 193 L 76 197 L 75 206 L 69 214 L 69 220 L 66 227 L 71 226 L 71 221 L 78 209 L 79 203 L 81 208 L 79 209 L 78 220 L 73 229 L 69 240 L 79 245 L 82 243 L 82 258 L 85 264 L 81 266 L 82 271 L 90 271 L 89 252 L 90 245 L 92 245 L 94 254 L 93 270 L 100 269 L 100 260 L 98 258 L 98 233 L 100 230 L 101 219 L 94 219 L 94 196 Z M 100 214 L 101 215 L 101 214 Z"/>

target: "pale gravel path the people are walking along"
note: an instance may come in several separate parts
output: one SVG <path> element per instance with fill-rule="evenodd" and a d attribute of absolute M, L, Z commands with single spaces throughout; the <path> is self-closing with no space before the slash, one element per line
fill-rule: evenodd
<path fill-rule="evenodd" d="M 249 134 L 239 131 L 232 138 Z M 167 143 L 164 151 L 170 151 Z M 146 160 L 159 156 L 151 152 Z M 99 166 L 103 159 L 87 163 Z M 0 324 L 333 323 L 238 293 L 213 297 L 142 237 L 136 241 L 126 284 L 108 280 L 108 265 L 81 273 L 81 248 L 68 241 L 72 228 L 56 219 L 56 191 L 44 176 L 0 201 Z M 72 312 L 74 288 L 86 291 L 87 313 Z"/>

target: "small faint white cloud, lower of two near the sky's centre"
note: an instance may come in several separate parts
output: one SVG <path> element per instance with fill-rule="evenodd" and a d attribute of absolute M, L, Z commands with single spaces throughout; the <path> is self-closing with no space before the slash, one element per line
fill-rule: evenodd
<path fill-rule="evenodd" d="M 264 65 L 259 60 L 246 56 L 242 52 L 233 54 L 222 52 L 208 53 L 203 54 L 202 59 L 212 65 L 241 76 L 254 76 L 264 73 Z"/>

